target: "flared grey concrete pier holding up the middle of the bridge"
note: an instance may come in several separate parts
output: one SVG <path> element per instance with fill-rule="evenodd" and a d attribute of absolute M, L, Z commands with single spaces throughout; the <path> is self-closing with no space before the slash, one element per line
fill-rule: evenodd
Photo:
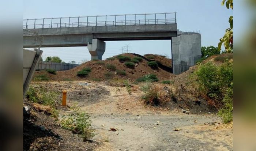
<path fill-rule="evenodd" d="M 99 39 L 92 39 L 92 43 L 88 43 L 87 48 L 91 54 L 91 60 L 102 60 L 102 55 L 105 52 L 106 43 Z"/>

